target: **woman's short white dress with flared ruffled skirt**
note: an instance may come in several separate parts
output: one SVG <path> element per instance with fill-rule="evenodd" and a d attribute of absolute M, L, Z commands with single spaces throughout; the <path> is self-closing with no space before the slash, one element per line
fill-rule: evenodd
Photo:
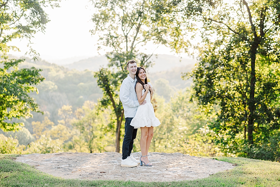
<path fill-rule="evenodd" d="M 142 95 L 145 93 L 145 90 L 142 90 Z M 161 124 L 161 122 L 156 118 L 154 107 L 151 103 L 150 91 L 147 93 L 145 98 L 147 101 L 146 104 L 140 105 L 137 108 L 137 112 L 135 117 L 132 119 L 130 125 L 134 128 L 140 127 L 157 127 Z"/>

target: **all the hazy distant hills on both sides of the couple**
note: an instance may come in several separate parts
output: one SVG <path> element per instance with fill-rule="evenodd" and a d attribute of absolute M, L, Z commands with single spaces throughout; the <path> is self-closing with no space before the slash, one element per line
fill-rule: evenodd
<path fill-rule="evenodd" d="M 155 64 L 147 70 L 147 77 L 153 84 L 155 93 L 163 96 L 166 101 L 179 89 L 189 87 L 192 80 L 182 80 L 181 74 L 189 72 L 195 61 L 172 55 L 158 55 L 153 57 Z M 41 74 L 46 80 L 39 84 L 39 94 L 30 93 L 40 105 L 40 109 L 51 121 L 57 123 L 58 109 L 63 105 L 72 105 L 73 110 L 82 106 L 86 100 L 96 101 L 103 93 L 98 87 L 94 72 L 100 66 L 107 65 L 105 56 L 95 56 L 78 62 L 59 66 L 45 60 L 36 62 L 26 58 L 20 68 L 32 66 L 42 69 Z M 0 64 L 2 65 L 2 64 Z M 87 69 L 87 70 L 86 70 Z M 34 113 L 34 118 L 25 121 L 26 128 L 32 133 L 31 122 L 42 121 L 44 116 Z"/>

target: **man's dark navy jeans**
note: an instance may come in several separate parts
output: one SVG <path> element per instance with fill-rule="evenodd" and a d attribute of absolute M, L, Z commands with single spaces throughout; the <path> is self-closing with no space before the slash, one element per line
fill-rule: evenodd
<path fill-rule="evenodd" d="M 125 118 L 124 123 L 124 141 L 123 141 L 123 160 L 130 156 L 130 153 L 133 148 L 133 141 L 136 138 L 137 130 L 130 125 L 133 117 Z"/>

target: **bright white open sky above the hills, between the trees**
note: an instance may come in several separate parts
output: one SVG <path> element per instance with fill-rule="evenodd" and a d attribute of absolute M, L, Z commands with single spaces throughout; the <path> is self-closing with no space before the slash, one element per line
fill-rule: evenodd
<path fill-rule="evenodd" d="M 98 38 L 91 36 L 89 32 L 93 28 L 93 23 L 90 21 L 93 14 L 90 2 L 88 0 L 62 0 L 60 6 L 60 8 L 45 9 L 51 21 L 47 24 L 45 33 L 35 34 L 32 39 L 33 49 L 40 53 L 40 58 L 52 63 L 66 58 L 87 58 L 98 55 L 97 46 L 95 46 Z M 10 45 L 15 45 L 21 50 L 21 52 L 11 51 L 10 54 L 24 55 L 28 50 L 27 43 L 26 40 L 10 42 Z M 153 51 L 156 46 L 150 44 L 145 48 Z M 155 53 L 174 54 L 164 46 L 157 48 Z"/>

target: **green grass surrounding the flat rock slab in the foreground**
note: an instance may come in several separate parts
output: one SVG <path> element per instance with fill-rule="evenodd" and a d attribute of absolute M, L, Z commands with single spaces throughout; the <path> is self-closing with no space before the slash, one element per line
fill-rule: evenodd
<path fill-rule="evenodd" d="M 70 180 L 45 174 L 34 167 L 15 162 L 19 155 L 0 154 L 0 186 L 1 187 L 49 187 L 49 186 L 125 186 L 125 187 L 211 187 L 211 186 L 280 186 L 280 163 L 259 161 L 246 158 L 216 157 L 237 166 L 232 170 L 219 172 L 208 178 L 179 182 L 134 182 L 117 180 Z"/>

